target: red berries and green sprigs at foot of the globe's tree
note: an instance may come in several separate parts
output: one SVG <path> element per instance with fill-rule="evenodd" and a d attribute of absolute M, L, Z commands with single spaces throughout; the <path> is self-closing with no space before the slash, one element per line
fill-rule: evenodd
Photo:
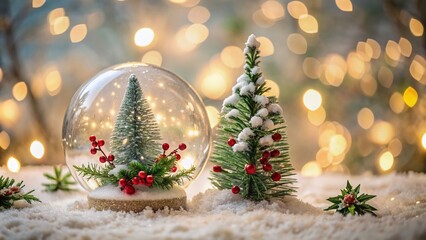
<path fill-rule="evenodd" d="M 92 163 L 87 166 L 74 166 L 74 168 L 84 177 L 100 181 L 101 185 L 118 185 L 123 192 L 129 195 L 134 194 L 139 187 L 143 186 L 170 189 L 175 184 L 182 185 L 184 179 L 191 179 L 191 175 L 195 171 L 194 166 L 189 169 L 178 170 L 176 165 L 177 161 L 181 159 L 179 151 L 186 149 L 184 143 L 179 144 L 176 149 L 169 153 L 166 152 L 170 148 L 169 144 L 162 144 L 163 152 L 152 165 L 134 160 L 123 167 L 123 165 L 114 164 L 115 157 L 113 154 L 107 155 L 104 152 L 102 149 L 105 144 L 104 140 L 96 140 L 95 136 L 90 136 L 89 140 L 92 144 L 90 153 L 95 155 L 100 152 L 99 162 L 105 165 L 99 166 Z M 119 171 L 114 173 L 116 167 L 120 168 Z"/>

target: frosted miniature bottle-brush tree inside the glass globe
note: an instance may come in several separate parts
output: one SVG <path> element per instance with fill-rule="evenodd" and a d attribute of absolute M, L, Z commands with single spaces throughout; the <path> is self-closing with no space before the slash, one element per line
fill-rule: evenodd
<path fill-rule="evenodd" d="M 159 140 L 160 130 L 154 114 L 138 79 L 132 74 L 112 132 L 111 151 L 118 164 L 140 160 L 152 165 L 161 151 Z"/>

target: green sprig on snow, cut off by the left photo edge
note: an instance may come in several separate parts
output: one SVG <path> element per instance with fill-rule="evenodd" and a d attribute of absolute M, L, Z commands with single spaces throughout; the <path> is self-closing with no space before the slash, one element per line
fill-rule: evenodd
<path fill-rule="evenodd" d="M 34 190 L 27 193 L 23 191 L 25 187 L 23 181 L 14 184 L 14 179 L 0 176 L 0 210 L 11 208 L 13 203 L 18 200 L 25 200 L 29 204 L 40 202 L 37 197 L 31 194 Z"/>

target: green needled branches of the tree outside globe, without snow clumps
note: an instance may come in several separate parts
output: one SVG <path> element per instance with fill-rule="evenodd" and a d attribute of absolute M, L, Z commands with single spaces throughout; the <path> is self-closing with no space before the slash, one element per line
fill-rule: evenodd
<path fill-rule="evenodd" d="M 245 54 L 246 65 L 248 66 L 245 68 L 245 75 L 250 79 L 250 83 L 255 84 L 256 88 L 253 94 L 248 95 L 241 95 L 240 90 L 237 89 L 234 94 L 239 95 L 238 103 L 235 105 L 224 105 L 211 157 L 211 161 L 219 165 L 222 171 L 212 172 L 211 181 L 216 188 L 221 190 L 238 186 L 241 189 L 239 194 L 242 197 L 254 201 L 293 195 L 295 188 L 292 184 L 295 182 L 295 179 L 291 178 L 291 176 L 294 175 L 294 169 L 290 163 L 284 118 L 279 113 L 269 112 L 266 119 L 272 120 L 274 127 L 267 130 L 262 127 L 252 127 L 250 124 L 252 117 L 261 108 L 265 107 L 255 101 L 254 96 L 264 95 L 270 88 L 266 87 L 265 83 L 256 85 L 262 74 L 252 73 L 251 69 L 259 66 L 259 51 L 256 47 L 248 47 L 248 50 L 248 53 Z M 268 99 L 269 104 L 277 103 L 276 97 L 269 97 Z M 239 111 L 238 116 L 226 118 L 226 113 L 232 109 Z M 250 128 L 254 133 L 254 136 L 246 141 L 249 150 L 234 152 L 233 148 L 228 145 L 228 139 L 237 139 L 238 134 L 244 128 Z M 279 133 L 282 139 L 270 146 L 259 144 L 260 138 L 274 133 Z M 272 151 L 274 149 L 279 150 L 281 154 L 269 160 L 273 170 L 265 172 L 259 159 L 262 157 L 264 151 Z M 246 164 L 254 164 L 256 166 L 256 173 L 252 175 L 247 174 L 245 171 Z M 279 181 L 271 179 L 273 172 L 281 174 Z"/>

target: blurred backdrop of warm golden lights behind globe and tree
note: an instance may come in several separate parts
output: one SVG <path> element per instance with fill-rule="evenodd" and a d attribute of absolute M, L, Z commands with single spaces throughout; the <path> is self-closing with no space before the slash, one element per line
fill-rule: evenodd
<path fill-rule="evenodd" d="M 63 163 L 81 84 L 142 61 L 189 81 L 217 124 L 258 36 L 302 175 L 426 171 L 424 0 L 2 0 L 0 165 Z"/>

